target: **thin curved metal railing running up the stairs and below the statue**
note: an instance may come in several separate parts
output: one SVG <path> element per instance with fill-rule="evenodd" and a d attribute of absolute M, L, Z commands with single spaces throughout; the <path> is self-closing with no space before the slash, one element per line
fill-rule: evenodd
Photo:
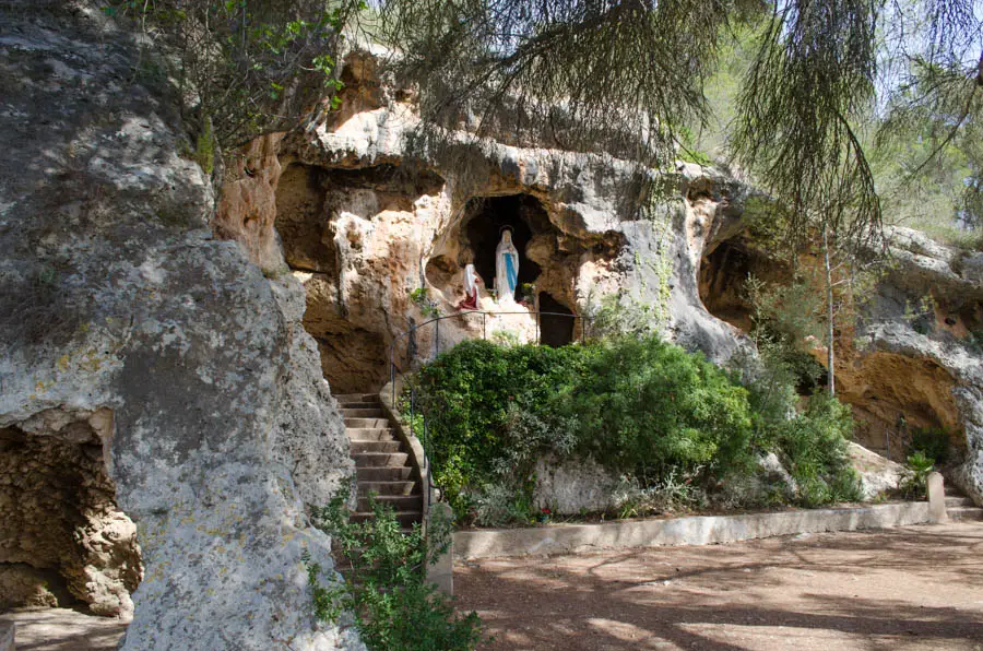
<path fill-rule="evenodd" d="M 402 414 L 402 405 L 396 402 L 396 380 L 401 379 L 406 372 L 410 372 L 414 369 L 414 363 L 423 362 L 417 358 L 417 344 L 416 344 L 416 334 L 421 332 L 424 328 L 428 326 L 433 326 L 434 329 L 434 351 L 433 356 L 436 358 L 440 355 L 440 323 L 441 321 L 446 321 L 449 319 L 463 319 L 469 315 L 481 315 L 482 316 L 482 340 L 487 340 L 488 338 L 488 318 L 497 318 L 497 317 L 508 317 L 508 316 L 525 316 L 525 317 L 534 317 L 535 320 L 535 339 L 534 342 L 536 345 L 542 345 L 543 343 L 543 328 L 542 328 L 542 317 L 559 317 L 562 319 L 571 319 L 573 321 L 573 327 L 571 331 L 571 341 L 573 341 L 572 335 L 577 334 L 577 321 L 580 320 L 580 341 L 587 341 L 588 334 L 590 333 L 590 322 L 591 319 L 589 317 L 583 317 L 579 315 L 572 315 L 567 312 L 550 312 L 550 311 L 538 311 L 538 310 L 518 310 L 518 311 L 509 311 L 509 312 L 488 312 L 484 310 L 465 310 L 462 312 L 454 312 L 452 315 L 443 315 L 439 317 L 435 317 L 423 323 L 416 324 L 412 323 L 411 328 L 404 332 L 401 332 L 395 338 L 393 338 L 392 343 L 389 346 L 389 383 L 392 391 L 391 394 L 391 404 L 394 412 L 400 415 Z M 396 346 L 403 340 L 406 340 L 405 346 L 405 355 L 404 355 L 404 364 L 405 367 L 401 368 L 396 364 Z M 428 477 L 428 485 L 426 487 L 428 492 L 428 497 L 433 497 L 433 490 L 436 488 L 434 485 L 433 473 L 430 473 L 430 445 L 429 445 L 429 427 L 427 426 L 426 417 L 422 418 L 422 426 L 416 425 L 416 415 L 419 412 L 419 405 L 417 402 L 417 391 L 416 387 L 410 386 L 410 418 L 406 423 L 408 428 L 408 434 L 411 437 L 416 437 L 419 439 L 421 445 L 424 451 L 423 464 L 424 467 L 421 469 L 422 473 Z M 421 416 L 423 413 L 419 412 Z M 414 428 L 419 429 L 421 431 L 414 431 Z M 433 499 L 428 499 L 428 504 L 431 504 Z"/>

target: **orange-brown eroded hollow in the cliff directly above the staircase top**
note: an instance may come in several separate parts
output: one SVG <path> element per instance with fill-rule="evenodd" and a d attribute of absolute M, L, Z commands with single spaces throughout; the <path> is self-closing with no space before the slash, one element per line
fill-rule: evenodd
<path fill-rule="evenodd" d="M 440 177 L 393 165 L 334 169 L 293 163 L 276 189 L 275 227 L 284 257 L 307 292 L 304 327 L 318 342 L 333 393 L 369 392 L 388 379 L 387 285 L 399 273 L 390 220 L 412 217 Z M 406 220 L 406 217 L 402 217 Z M 412 221 L 407 220 L 407 221 Z M 380 264 L 386 248 L 390 269 Z"/>

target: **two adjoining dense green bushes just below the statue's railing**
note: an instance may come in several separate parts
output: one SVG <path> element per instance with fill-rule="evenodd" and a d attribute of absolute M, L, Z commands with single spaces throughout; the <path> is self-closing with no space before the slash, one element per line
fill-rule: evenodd
<path fill-rule="evenodd" d="M 642 488 L 670 476 L 704 484 L 750 463 L 746 390 L 655 336 L 561 348 L 465 342 L 415 381 L 435 480 L 459 518 L 485 524 L 535 514 L 533 471 L 546 455 L 592 457 Z"/>

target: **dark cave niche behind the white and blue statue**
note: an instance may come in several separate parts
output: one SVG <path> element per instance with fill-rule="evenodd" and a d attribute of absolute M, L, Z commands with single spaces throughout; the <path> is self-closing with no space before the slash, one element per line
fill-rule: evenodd
<path fill-rule="evenodd" d="M 512 229 L 512 244 L 519 251 L 519 289 L 516 298 L 524 297 L 522 286 L 535 283 L 542 269 L 529 259 L 526 247 L 535 235 L 550 229 L 549 216 L 537 199 L 529 194 L 479 197 L 467 202 L 464 235 L 474 256 L 474 270 L 488 288 L 495 279 L 495 249 L 501 232 Z"/>

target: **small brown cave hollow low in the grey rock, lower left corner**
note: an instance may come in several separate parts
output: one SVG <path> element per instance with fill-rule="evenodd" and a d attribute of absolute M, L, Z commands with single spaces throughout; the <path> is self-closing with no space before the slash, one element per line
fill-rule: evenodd
<path fill-rule="evenodd" d="M 0 428 L 0 612 L 70 607 L 127 618 L 142 578 L 137 528 L 116 505 L 90 423 Z"/>

